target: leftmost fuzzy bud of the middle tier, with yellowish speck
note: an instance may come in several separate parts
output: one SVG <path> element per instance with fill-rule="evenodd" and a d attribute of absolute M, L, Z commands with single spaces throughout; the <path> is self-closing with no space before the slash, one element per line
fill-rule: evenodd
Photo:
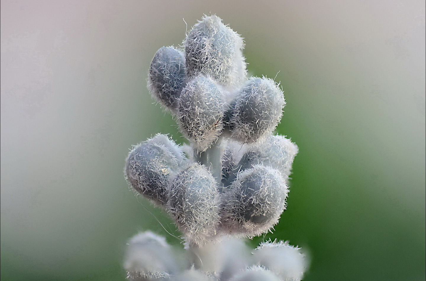
<path fill-rule="evenodd" d="M 167 204 L 170 172 L 184 161 L 180 148 L 167 136 L 156 135 L 135 146 L 126 161 L 127 181 L 154 203 Z"/>

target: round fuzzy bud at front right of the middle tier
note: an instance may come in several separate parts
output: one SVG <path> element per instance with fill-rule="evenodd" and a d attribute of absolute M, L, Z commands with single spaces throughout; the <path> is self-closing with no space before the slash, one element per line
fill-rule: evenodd
<path fill-rule="evenodd" d="M 256 236 L 278 223 L 288 188 L 280 173 L 256 165 L 240 172 L 222 195 L 221 231 L 237 236 Z"/>

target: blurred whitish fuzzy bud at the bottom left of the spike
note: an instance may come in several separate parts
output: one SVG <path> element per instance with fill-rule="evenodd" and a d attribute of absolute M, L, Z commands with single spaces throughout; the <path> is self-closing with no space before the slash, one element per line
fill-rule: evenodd
<path fill-rule="evenodd" d="M 164 237 L 153 232 L 141 232 L 130 239 L 124 268 L 134 280 L 165 278 L 178 269 L 171 247 Z"/>

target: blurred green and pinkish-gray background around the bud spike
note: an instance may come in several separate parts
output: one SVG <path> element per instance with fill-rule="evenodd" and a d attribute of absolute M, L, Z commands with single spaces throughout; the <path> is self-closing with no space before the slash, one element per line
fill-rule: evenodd
<path fill-rule="evenodd" d="M 300 148 L 288 210 L 253 246 L 303 247 L 306 281 L 425 280 L 422 0 L 2 0 L 1 280 L 124 280 L 144 229 L 181 247 L 122 170 L 157 132 L 184 141 L 147 70 L 210 13 L 281 82 L 277 131 Z"/>

